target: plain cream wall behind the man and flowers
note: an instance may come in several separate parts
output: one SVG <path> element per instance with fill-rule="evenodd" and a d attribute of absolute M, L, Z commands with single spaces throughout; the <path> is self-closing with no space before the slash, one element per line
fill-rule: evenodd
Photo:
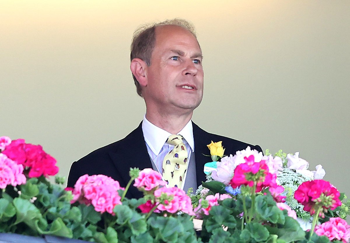
<path fill-rule="evenodd" d="M 181 17 L 204 55 L 193 120 L 263 150 L 300 151 L 350 195 L 349 13 L 345 0 L 1 1 L 0 135 L 41 144 L 68 176 L 142 120 L 133 31 Z"/>

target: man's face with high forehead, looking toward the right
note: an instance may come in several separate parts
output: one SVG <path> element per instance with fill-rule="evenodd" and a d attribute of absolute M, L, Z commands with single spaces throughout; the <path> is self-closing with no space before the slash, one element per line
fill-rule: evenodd
<path fill-rule="evenodd" d="M 179 26 L 159 26 L 142 91 L 147 108 L 192 112 L 203 97 L 202 51 L 196 38 Z"/>

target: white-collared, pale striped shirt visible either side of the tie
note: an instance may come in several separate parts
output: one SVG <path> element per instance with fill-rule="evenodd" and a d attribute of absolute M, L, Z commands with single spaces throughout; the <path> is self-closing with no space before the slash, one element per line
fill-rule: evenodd
<path fill-rule="evenodd" d="M 144 133 L 149 157 L 153 160 L 158 172 L 161 173 L 165 155 L 174 148 L 174 145 L 166 142 L 168 137 L 172 134 L 149 122 L 146 119 L 146 115 L 144 116 L 144 120 L 142 122 L 142 132 Z M 190 163 L 191 154 L 195 151 L 192 121 L 189 121 L 178 134 L 184 138 L 183 143 L 185 144 L 188 153 L 187 161 Z M 184 176 L 184 181 L 186 180 L 186 174 Z M 185 183 L 182 183 L 182 189 L 184 184 Z"/>

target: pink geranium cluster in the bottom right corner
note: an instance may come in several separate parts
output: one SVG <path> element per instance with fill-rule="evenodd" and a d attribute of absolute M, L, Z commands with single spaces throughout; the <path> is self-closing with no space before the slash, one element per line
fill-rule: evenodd
<path fill-rule="evenodd" d="M 315 233 L 319 236 L 325 235 L 330 241 L 338 240 L 344 243 L 350 240 L 350 225 L 345 220 L 337 217 L 315 227 Z"/>

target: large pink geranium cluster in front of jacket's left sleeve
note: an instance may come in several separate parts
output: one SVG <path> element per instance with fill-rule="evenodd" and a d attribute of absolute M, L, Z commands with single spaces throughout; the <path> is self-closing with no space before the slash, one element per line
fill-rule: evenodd
<path fill-rule="evenodd" d="M 120 189 L 125 188 L 120 187 L 119 182 L 111 177 L 85 174 L 79 177 L 74 185 L 71 203 L 78 201 L 86 205 L 92 204 L 97 212 L 108 212 L 114 215 L 114 206 L 121 204 L 118 194 Z"/>

